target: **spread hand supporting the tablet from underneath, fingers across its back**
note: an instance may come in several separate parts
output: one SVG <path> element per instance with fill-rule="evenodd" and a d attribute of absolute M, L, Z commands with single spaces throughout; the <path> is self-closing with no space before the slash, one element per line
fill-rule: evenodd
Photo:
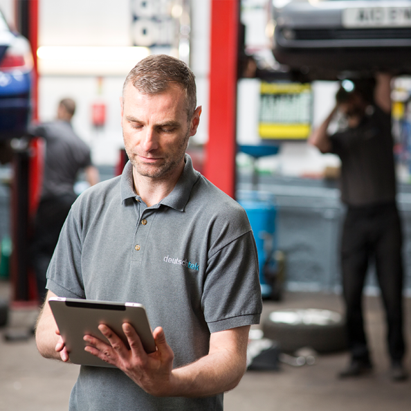
<path fill-rule="evenodd" d="M 98 329 L 109 340 L 109 343 L 86 335 L 84 336 L 84 341 L 88 344 L 85 347 L 86 351 L 106 363 L 116 365 L 149 394 L 172 395 L 174 353 L 167 344 L 161 327 L 154 330 L 153 336 L 157 350 L 152 354 L 145 352 L 136 330 L 128 323 L 123 324 L 122 329 L 127 336 L 130 349 L 106 325 L 100 325 Z"/>

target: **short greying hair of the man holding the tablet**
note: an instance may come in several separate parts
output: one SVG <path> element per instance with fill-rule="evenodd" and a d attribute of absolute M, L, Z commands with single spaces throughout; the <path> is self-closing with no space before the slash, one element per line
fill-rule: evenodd
<path fill-rule="evenodd" d="M 125 79 L 123 98 L 129 82 L 144 94 L 163 93 L 172 84 L 181 87 L 185 91 L 188 120 L 191 120 L 197 106 L 196 82 L 194 73 L 181 60 L 165 54 L 150 55 L 140 60 Z"/>

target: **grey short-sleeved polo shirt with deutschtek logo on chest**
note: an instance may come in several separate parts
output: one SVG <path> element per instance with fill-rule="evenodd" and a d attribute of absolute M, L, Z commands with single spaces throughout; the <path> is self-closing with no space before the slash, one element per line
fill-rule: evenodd
<path fill-rule="evenodd" d="M 165 330 L 174 367 L 208 354 L 210 333 L 257 324 L 262 311 L 257 250 L 246 212 L 192 168 L 147 207 L 132 166 L 74 203 L 48 268 L 62 297 L 139 302 Z M 146 394 L 118 369 L 81 367 L 71 410 L 222 410 L 206 399 Z"/>

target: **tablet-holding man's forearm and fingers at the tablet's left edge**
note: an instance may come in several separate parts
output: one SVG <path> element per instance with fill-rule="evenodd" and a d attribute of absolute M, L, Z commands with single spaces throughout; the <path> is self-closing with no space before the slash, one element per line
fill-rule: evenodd
<path fill-rule="evenodd" d="M 56 297 L 56 295 L 48 291 L 46 301 L 37 320 L 35 330 L 37 349 L 44 358 L 54 358 L 66 362 L 69 361 L 69 354 L 48 304 L 51 297 Z"/>

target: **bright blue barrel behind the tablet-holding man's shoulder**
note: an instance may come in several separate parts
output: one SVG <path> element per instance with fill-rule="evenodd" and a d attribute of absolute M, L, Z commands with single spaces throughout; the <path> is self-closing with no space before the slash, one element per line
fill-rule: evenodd
<path fill-rule="evenodd" d="M 237 201 L 246 210 L 248 220 L 257 245 L 259 264 L 259 283 L 263 297 L 270 297 L 271 284 L 267 284 L 264 266 L 276 248 L 275 241 L 275 206 L 274 195 L 269 192 L 239 190 Z"/>

